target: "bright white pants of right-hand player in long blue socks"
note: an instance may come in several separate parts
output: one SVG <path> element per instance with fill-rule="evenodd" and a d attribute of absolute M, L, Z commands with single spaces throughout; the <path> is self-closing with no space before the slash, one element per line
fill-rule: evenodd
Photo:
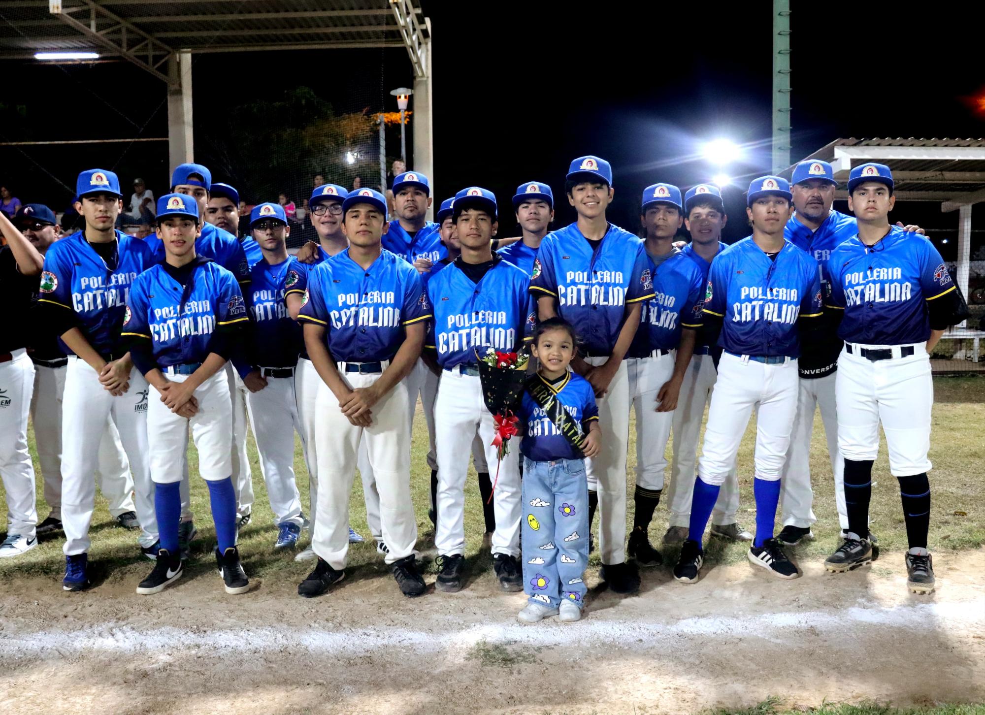
<path fill-rule="evenodd" d="M 697 467 L 705 484 L 725 483 L 755 408 L 755 478 L 780 479 L 797 414 L 799 381 L 796 359 L 765 364 L 722 354 Z"/>

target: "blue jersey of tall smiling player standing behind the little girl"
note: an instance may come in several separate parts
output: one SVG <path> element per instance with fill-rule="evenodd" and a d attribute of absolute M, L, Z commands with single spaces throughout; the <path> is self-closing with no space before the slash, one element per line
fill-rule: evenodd
<path fill-rule="evenodd" d="M 530 292 L 558 298 L 558 315 L 571 323 L 589 354 L 609 355 L 619 338 L 625 306 L 654 296 L 643 241 L 620 227 L 593 250 L 577 224 L 548 233 L 534 260 Z"/>

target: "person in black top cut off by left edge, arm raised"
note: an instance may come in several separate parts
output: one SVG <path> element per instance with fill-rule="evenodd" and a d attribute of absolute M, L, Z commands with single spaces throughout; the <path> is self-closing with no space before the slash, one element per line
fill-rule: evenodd
<path fill-rule="evenodd" d="M 6 558 L 37 546 L 34 467 L 28 451 L 34 365 L 27 346 L 28 308 L 44 259 L 3 212 L 0 234 L 7 239 L 0 247 L 0 297 L 9 311 L 0 337 L 0 478 L 7 493 L 7 537 L 0 543 L 0 558 Z"/>

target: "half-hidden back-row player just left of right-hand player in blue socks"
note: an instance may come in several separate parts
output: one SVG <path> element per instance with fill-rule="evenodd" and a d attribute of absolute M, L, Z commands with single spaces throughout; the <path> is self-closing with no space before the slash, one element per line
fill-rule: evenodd
<path fill-rule="evenodd" d="M 702 283 L 707 284 L 711 262 L 726 248 L 720 242 L 722 228 L 728 217 L 717 186 L 697 184 L 684 197 L 685 227 L 690 243 L 681 249 L 701 271 Z M 690 499 L 694 493 L 697 466 L 697 438 L 701 433 L 704 409 L 711 400 L 717 373 L 709 347 L 699 334 L 695 338 L 693 356 L 681 383 L 678 407 L 674 411 L 674 459 L 671 463 L 671 483 L 664 489 L 669 506 L 670 526 L 664 534 L 664 544 L 683 544 L 688 539 Z M 711 512 L 711 534 L 732 541 L 752 541 L 753 535 L 743 529 L 736 519 L 739 511 L 739 476 L 735 468 L 725 477 L 718 500 Z"/>

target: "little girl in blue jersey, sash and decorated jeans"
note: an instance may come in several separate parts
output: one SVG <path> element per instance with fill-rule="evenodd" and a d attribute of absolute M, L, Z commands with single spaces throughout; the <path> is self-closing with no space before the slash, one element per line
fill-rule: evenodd
<path fill-rule="evenodd" d="M 534 330 L 540 369 L 520 410 L 523 453 L 523 583 L 530 596 L 517 617 L 578 620 L 588 563 L 588 482 L 584 457 L 599 451 L 599 411 L 588 380 L 568 371 L 575 334 L 561 318 Z"/>

